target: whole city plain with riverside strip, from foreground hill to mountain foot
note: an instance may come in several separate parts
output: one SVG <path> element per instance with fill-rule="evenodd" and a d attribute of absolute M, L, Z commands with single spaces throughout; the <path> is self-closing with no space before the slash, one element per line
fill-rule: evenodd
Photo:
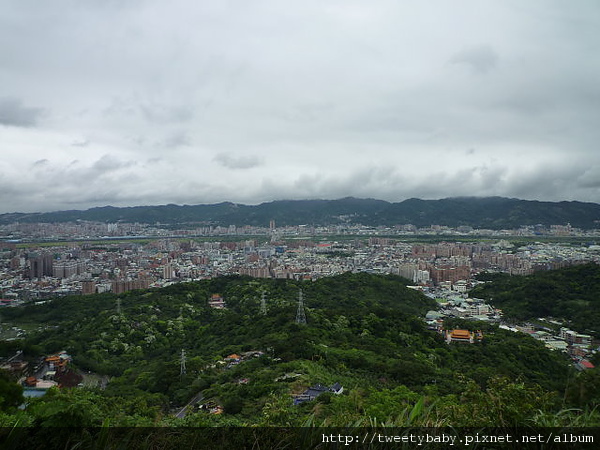
<path fill-rule="evenodd" d="M 527 275 L 600 261 L 595 244 L 600 232 L 569 225 L 516 230 L 435 225 L 277 228 L 271 221 L 268 228 L 173 230 L 79 222 L 5 225 L 0 236 L 3 304 L 57 295 L 118 294 L 232 274 L 314 280 L 344 272 L 391 273 L 423 287 L 466 292 L 472 276 L 482 270 Z"/>

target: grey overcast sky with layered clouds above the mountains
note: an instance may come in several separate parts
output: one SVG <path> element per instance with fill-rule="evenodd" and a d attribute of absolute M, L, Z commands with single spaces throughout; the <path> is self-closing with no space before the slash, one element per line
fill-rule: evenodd
<path fill-rule="evenodd" d="M 0 4 L 0 213 L 600 202 L 597 0 Z"/>

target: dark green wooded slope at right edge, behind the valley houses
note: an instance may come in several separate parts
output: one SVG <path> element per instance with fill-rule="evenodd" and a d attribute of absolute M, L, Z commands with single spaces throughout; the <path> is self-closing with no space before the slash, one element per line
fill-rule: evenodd
<path fill-rule="evenodd" d="M 497 275 L 471 295 L 487 299 L 510 317 L 553 317 L 600 337 L 600 266 L 585 264 L 526 277 Z"/>

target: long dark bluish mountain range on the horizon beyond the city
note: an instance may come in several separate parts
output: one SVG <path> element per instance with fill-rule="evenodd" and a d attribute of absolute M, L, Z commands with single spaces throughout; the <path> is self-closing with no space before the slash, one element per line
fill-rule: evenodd
<path fill-rule="evenodd" d="M 160 205 L 117 208 L 104 206 L 85 211 L 11 213 L 0 224 L 14 222 L 139 222 L 161 224 L 277 226 L 433 224 L 450 227 L 518 228 L 523 225 L 565 225 L 583 229 L 600 227 L 600 205 L 583 202 L 541 202 L 503 197 L 456 197 L 441 200 L 408 199 L 398 203 L 353 197 L 339 200 L 280 200 L 260 205 Z"/>

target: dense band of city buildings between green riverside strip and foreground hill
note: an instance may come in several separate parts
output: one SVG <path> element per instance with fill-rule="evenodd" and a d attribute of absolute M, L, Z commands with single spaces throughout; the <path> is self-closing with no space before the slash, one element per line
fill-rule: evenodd
<path fill-rule="evenodd" d="M 283 239 L 271 231 L 262 241 L 165 237 L 52 246 L 1 241 L 0 304 L 57 295 L 119 294 L 231 274 L 314 280 L 344 272 L 389 273 L 421 286 L 466 292 L 473 275 L 482 270 L 525 275 L 600 262 L 596 245 L 534 243 L 515 248 L 503 239 L 415 244 L 373 235 L 326 241 L 314 236 Z"/>

